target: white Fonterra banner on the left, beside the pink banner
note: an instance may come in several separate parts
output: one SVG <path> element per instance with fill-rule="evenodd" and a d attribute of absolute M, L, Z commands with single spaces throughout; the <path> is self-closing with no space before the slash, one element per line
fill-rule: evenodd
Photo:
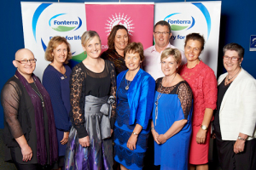
<path fill-rule="evenodd" d="M 25 48 L 32 50 L 38 59 L 34 73 L 43 77 L 49 61 L 44 50 L 51 37 L 66 37 L 73 59 L 77 64 L 84 59 L 81 36 L 86 31 L 84 3 L 21 3 Z M 42 80 L 42 79 L 41 79 Z"/>

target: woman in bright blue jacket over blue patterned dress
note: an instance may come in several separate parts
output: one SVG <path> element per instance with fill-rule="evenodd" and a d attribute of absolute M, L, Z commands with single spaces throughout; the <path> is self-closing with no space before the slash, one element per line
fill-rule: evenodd
<path fill-rule="evenodd" d="M 114 124 L 114 160 L 123 169 L 142 169 L 147 150 L 149 119 L 154 102 L 154 78 L 140 69 L 143 44 L 125 48 L 125 65 L 117 77 L 117 116 Z"/>

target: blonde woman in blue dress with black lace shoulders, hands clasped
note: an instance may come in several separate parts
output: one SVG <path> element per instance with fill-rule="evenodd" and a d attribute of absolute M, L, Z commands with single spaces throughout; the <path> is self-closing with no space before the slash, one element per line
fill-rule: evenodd
<path fill-rule="evenodd" d="M 161 54 L 165 77 L 156 80 L 153 121 L 154 165 L 163 170 L 188 169 L 192 90 L 177 74 L 181 54 L 166 48 Z"/>

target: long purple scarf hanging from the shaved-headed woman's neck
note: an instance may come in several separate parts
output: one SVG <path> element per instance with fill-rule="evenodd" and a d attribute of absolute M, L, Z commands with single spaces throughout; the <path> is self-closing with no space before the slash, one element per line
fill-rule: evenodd
<path fill-rule="evenodd" d="M 34 106 L 35 111 L 35 122 L 36 122 L 36 131 L 38 137 L 38 164 L 45 165 L 47 164 L 47 150 L 45 144 L 44 137 L 44 112 L 42 107 L 41 99 L 38 97 L 38 94 L 32 89 L 31 85 L 26 81 L 26 78 L 20 75 L 19 71 L 15 72 L 15 76 L 19 78 L 20 82 L 26 88 L 27 94 L 30 96 L 32 100 L 32 105 Z M 48 133 L 49 133 L 49 164 L 51 165 L 53 162 L 58 159 L 58 145 L 57 145 L 57 137 L 55 130 L 55 117 L 54 112 L 51 106 L 50 98 L 48 92 L 45 90 L 42 83 L 39 81 L 38 77 L 32 74 L 32 79 L 35 85 L 38 88 L 38 91 L 44 98 L 44 107 L 48 116 Z"/>

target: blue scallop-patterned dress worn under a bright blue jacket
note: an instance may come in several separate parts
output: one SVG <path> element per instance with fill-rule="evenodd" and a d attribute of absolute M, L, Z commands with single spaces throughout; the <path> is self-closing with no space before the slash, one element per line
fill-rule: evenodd
<path fill-rule="evenodd" d="M 120 82 L 117 97 L 119 105 L 117 107 L 116 122 L 114 124 L 113 142 L 114 142 L 114 160 L 118 161 L 128 169 L 143 169 L 143 158 L 147 150 L 149 128 L 142 130 L 137 136 L 136 150 L 130 150 L 126 144 L 131 137 L 136 123 L 129 125 L 130 106 L 125 90 L 125 77 Z"/>

